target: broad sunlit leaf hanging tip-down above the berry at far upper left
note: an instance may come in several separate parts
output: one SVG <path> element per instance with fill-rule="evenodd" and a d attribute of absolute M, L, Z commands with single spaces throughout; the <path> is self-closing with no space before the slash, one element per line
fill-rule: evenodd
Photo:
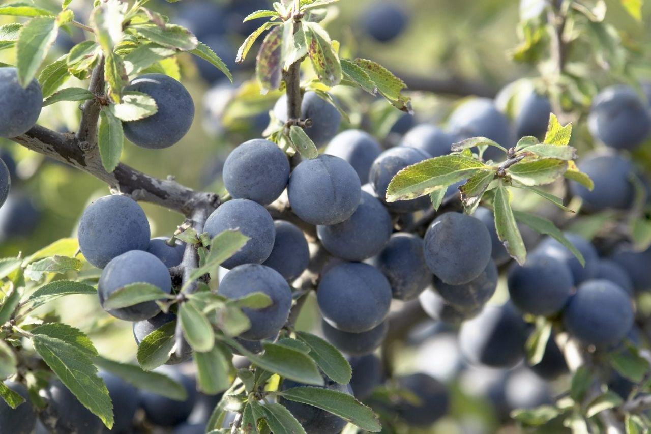
<path fill-rule="evenodd" d="M 49 48 L 57 39 L 58 30 L 56 18 L 49 16 L 32 18 L 20 29 L 16 43 L 18 49 L 16 68 L 18 82 L 22 87 L 27 87 L 36 75 Z"/>

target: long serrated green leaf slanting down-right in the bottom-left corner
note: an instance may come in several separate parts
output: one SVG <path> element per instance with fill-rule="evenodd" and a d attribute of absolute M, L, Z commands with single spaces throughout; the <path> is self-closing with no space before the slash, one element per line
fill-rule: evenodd
<path fill-rule="evenodd" d="M 113 404 L 104 381 L 97 376 L 97 368 L 89 354 L 76 345 L 44 334 L 35 334 L 32 343 L 36 353 L 79 402 L 111 429 Z"/>

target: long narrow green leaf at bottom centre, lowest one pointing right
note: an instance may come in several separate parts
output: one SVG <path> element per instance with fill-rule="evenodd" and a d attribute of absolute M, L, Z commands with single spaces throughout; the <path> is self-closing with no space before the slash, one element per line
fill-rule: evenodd
<path fill-rule="evenodd" d="M 380 432 L 378 416 L 366 405 L 348 394 L 319 387 L 294 387 L 280 393 L 284 399 L 323 409 L 351 424 L 370 431 Z"/>

